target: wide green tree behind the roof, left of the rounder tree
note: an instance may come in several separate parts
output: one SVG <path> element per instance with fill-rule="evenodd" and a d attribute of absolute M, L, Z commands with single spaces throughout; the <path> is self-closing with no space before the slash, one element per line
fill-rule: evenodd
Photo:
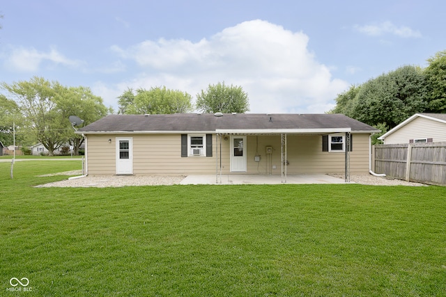
<path fill-rule="evenodd" d="M 125 102 L 131 101 L 131 89 L 121 97 Z M 123 99 L 124 100 L 124 99 Z M 126 114 L 169 114 L 192 111 L 192 96 L 180 90 L 170 90 L 165 86 L 145 90 L 137 89 L 132 104 L 125 105 Z"/>

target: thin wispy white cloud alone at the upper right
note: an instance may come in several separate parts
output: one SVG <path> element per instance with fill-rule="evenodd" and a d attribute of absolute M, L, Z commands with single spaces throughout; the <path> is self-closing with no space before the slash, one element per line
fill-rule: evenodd
<path fill-rule="evenodd" d="M 420 38 L 420 31 L 410 29 L 408 26 L 397 26 L 392 22 L 382 22 L 380 24 L 354 26 L 356 31 L 370 36 L 382 36 L 385 34 L 397 35 L 401 38 Z"/>

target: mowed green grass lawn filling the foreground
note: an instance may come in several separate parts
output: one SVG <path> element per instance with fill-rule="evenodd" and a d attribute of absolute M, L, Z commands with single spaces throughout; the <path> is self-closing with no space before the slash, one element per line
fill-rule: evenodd
<path fill-rule="evenodd" d="M 446 188 L 33 187 L 75 169 L 0 163 L 0 296 L 446 296 Z"/>

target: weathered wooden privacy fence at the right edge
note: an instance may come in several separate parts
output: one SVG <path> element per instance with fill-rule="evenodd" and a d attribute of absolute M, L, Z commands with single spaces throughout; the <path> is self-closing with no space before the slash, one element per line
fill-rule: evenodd
<path fill-rule="evenodd" d="M 374 145 L 375 172 L 446 186 L 446 142 Z"/>

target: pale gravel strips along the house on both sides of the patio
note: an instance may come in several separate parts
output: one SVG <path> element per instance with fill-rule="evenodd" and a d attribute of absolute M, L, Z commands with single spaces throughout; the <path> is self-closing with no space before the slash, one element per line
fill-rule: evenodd
<path fill-rule="evenodd" d="M 82 175 L 80 170 L 59 172 L 51 175 Z M 51 176 L 41 175 L 41 176 Z M 330 174 L 332 177 L 344 179 L 344 175 Z M 71 178 L 60 182 L 41 184 L 38 188 L 44 187 L 120 187 L 120 186 L 169 186 L 180 184 L 185 178 L 184 175 L 88 175 L 86 177 Z M 367 184 L 371 186 L 427 186 L 417 182 L 406 182 L 389 177 L 376 177 L 374 175 L 351 175 L 350 181 L 355 184 Z"/>

